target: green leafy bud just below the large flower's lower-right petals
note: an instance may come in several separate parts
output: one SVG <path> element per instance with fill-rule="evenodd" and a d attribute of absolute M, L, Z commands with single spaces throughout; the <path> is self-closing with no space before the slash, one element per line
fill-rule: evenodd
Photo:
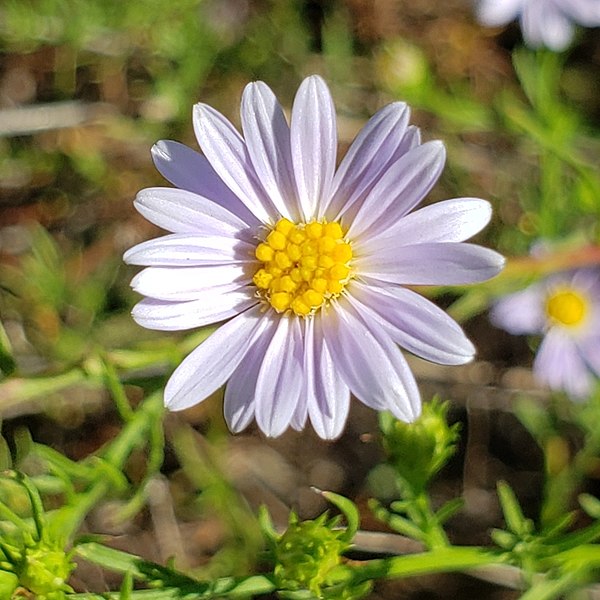
<path fill-rule="evenodd" d="M 456 450 L 458 425 L 449 426 L 448 403 L 434 398 L 423 405 L 414 423 L 403 423 L 381 413 L 383 447 L 390 464 L 414 493 L 419 493 Z"/>

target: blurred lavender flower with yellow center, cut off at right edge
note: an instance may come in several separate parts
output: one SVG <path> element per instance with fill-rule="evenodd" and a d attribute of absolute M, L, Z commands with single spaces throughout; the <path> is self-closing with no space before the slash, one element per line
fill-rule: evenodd
<path fill-rule="evenodd" d="M 540 382 L 574 399 L 600 376 L 600 269 L 553 275 L 500 300 L 492 322 L 509 333 L 543 334 L 533 364 Z"/>

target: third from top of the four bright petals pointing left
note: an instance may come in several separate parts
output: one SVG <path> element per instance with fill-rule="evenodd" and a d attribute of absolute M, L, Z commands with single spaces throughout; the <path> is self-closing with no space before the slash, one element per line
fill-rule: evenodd
<path fill-rule="evenodd" d="M 239 289 L 250 283 L 253 271 L 245 264 L 147 267 L 131 280 L 131 287 L 142 296 L 183 302 L 200 299 L 213 288 Z"/>

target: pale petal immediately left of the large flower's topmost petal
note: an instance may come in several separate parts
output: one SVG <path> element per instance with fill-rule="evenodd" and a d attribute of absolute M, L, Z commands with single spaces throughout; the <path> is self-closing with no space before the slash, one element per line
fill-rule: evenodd
<path fill-rule="evenodd" d="M 254 169 L 281 216 L 300 220 L 290 128 L 277 98 L 262 81 L 246 86 L 242 128 Z"/>

